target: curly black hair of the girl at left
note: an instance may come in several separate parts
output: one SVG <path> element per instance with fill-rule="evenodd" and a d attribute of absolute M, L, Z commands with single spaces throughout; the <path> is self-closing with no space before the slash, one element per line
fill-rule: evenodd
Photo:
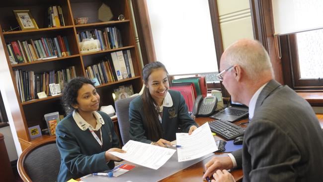
<path fill-rule="evenodd" d="M 93 81 L 84 77 L 76 77 L 65 85 L 62 95 L 62 103 L 66 114 L 74 111 L 75 108 L 72 105 L 78 103 L 78 91 L 84 84 L 91 84 L 94 87 Z"/>

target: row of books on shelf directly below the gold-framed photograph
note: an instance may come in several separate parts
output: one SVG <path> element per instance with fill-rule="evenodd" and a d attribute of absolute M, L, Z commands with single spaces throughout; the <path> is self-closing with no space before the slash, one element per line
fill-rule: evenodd
<path fill-rule="evenodd" d="M 18 64 L 71 55 L 67 37 L 60 35 L 37 40 L 17 40 L 6 45 L 9 56 Z"/>

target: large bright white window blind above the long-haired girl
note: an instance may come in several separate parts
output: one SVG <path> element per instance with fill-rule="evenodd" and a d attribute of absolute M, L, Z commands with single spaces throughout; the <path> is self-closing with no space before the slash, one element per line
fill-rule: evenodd
<path fill-rule="evenodd" d="M 208 0 L 147 0 L 157 61 L 170 75 L 218 72 Z"/>

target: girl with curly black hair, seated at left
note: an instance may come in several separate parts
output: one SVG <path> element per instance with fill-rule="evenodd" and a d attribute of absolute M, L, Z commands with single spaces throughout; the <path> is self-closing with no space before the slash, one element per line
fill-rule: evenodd
<path fill-rule="evenodd" d="M 125 152 L 119 147 L 111 118 L 97 111 L 100 96 L 91 80 L 77 77 L 64 88 L 62 100 L 71 111 L 56 127 L 56 143 L 61 153 L 58 182 L 81 178 L 114 168 L 119 161 L 109 152 Z"/>

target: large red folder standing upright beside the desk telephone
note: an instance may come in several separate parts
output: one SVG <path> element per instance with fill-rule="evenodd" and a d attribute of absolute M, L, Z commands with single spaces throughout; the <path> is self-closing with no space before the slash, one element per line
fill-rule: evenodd
<path fill-rule="evenodd" d="M 169 86 L 170 90 L 180 91 L 183 95 L 188 111 L 193 111 L 193 105 L 195 101 L 194 96 L 194 84 L 193 83 L 173 83 Z"/>

